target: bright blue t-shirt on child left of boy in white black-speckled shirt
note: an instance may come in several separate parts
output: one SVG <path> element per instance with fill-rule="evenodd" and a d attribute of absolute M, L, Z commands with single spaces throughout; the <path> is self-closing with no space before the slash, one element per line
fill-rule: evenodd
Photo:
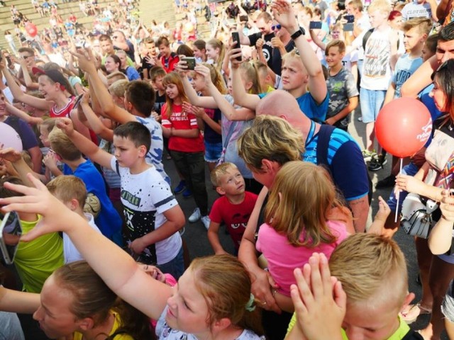
<path fill-rule="evenodd" d="M 106 193 L 106 186 L 104 179 L 99 171 L 94 167 L 93 163 L 87 160 L 86 162 L 77 166 L 76 171 L 72 171 L 70 166 L 63 167 L 63 174 L 74 175 L 85 183 L 87 193 L 93 193 L 101 203 L 101 211 L 94 219 L 94 222 L 101 230 L 102 234 L 109 239 L 121 231 L 121 217 L 112 205 L 111 200 Z"/>

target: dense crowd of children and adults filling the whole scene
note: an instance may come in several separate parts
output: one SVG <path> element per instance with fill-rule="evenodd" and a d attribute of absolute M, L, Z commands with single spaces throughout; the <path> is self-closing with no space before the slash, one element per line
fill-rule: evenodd
<path fill-rule="evenodd" d="M 0 124 L 23 151 L 0 146 L 0 205 L 23 235 L 0 264 L 0 337 L 454 339 L 453 5 L 202 2 L 175 1 L 173 32 L 105 22 L 55 62 L 51 46 L 49 62 L 2 52 Z M 190 14 L 203 9 L 206 40 Z M 392 158 L 372 222 L 368 170 L 391 160 L 375 121 L 404 96 L 435 132 L 402 171 Z M 416 303 L 392 240 L 407 193 L 440 203 L 415 239 Z M 190 261 L 187 221 L 213 256 Z"/>

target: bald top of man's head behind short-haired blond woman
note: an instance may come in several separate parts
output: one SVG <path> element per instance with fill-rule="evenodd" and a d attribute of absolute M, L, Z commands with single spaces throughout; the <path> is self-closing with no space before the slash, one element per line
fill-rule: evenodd
<path fill-rule="evenodd" d="M 275 117 L 304 115 L 299 108 L 297 99 L 287 91 L 282 90 L 272 91 L 263 97 L 255 108 L 255 113 L 257 115 L 274 115 Z"/>

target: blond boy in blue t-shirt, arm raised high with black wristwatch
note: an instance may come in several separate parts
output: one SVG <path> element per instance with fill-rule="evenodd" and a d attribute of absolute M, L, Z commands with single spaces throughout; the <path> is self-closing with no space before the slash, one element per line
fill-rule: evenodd
<path fill-rule="evenodd" d="M 297 50 L 282 57 L 283 89 L 297 98 L 301 111 L 309 118 L 324 121 L 328 108 L 328 92 L 321 63 L 304 38 L 304 32 L 297 23 L 292 6 L 285 0 L 276 0 L 273 1 L 272 8 L 276 21 L 289 31 L 297 47 Z M 251 96 L 244 91 L 238 77 L 238 68 L 235 67 L 240 63 L 236 60 L 241 56 L 240 52 L 240 48 L 233 48 L 229 53 L 233 73 L 233 98 L 238 105 L 255 110 L 260 98 L 266 94 Z"/>

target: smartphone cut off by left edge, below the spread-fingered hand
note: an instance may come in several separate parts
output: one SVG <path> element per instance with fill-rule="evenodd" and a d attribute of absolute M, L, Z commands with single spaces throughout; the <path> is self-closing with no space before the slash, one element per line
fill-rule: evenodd
<path fill-rule="evenodd" d="M 22 225 L 19 215 L 15 211 L 0 212 L 0 251 L 6 264 L 12 264 L 16 256 L 19 239 L 21 239 Z"/>

